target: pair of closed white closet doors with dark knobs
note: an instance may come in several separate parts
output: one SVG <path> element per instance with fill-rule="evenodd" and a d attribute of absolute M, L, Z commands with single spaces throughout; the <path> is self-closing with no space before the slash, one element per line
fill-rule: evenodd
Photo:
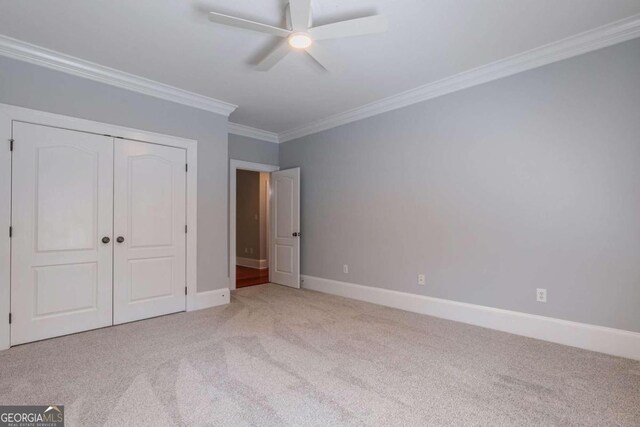
<path fill-rule="evenodd" d="M 186 151 L 14 122 L 11 344 L 185 310 Z"/>

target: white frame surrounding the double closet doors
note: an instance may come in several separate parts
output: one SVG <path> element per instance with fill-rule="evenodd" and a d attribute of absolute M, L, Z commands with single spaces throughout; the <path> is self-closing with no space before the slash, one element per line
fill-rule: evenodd
<path fill-rule="evenodd" d="M 109 135 L 115 138 L 166 145 L 186 150 L 188 164 L 186 204 L 186 225 L 188 229 L 188 233 L 186 234 L 186 310 L 196 310 L 198 308 L 198 141 L 0 103 L 0 138 L 2 138 L 6 144 L 0 147 L 0 230 L 6 230 L 0 233 L 2 235 L 2 237 L 0 237 L 0 350 L 9 348 L 11 343 L 11 326 L 8 322 L 11 304 L 11 239 L 9 238 L 8 229 L 11 225 L 12 177 L 9 141 L 12 138 L 12 123 L 14 121 L 99 135 Z M 16 141 L 15 143 L 19 144 L 20 142 Z"/>

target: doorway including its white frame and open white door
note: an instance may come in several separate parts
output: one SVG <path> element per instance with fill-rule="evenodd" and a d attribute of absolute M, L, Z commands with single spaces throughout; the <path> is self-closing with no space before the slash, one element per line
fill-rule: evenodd
<path fill-rule="evenodd" d="M 261 283 L 300 288 L 301 236 L 300 168 L 230 160 L 229 288 Z"/>

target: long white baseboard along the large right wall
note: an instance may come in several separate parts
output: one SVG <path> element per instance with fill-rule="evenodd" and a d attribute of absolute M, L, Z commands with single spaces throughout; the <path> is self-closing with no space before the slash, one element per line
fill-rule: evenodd
<path fill-rule="evenodd" d="M 314 276 L 302 276 L 302 280 L 302 287 L 313 291 L 640 360 L 640 333 L 638 332 L 373 288 Z"/>

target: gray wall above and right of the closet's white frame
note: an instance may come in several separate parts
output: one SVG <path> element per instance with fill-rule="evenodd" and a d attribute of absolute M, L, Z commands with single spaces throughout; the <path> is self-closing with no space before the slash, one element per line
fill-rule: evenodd
<path fill-rule="evenodd" d="M 0 102 L 198 140 L 198 290 L 228 287 L 226 117 L 5 57 Z"/>

